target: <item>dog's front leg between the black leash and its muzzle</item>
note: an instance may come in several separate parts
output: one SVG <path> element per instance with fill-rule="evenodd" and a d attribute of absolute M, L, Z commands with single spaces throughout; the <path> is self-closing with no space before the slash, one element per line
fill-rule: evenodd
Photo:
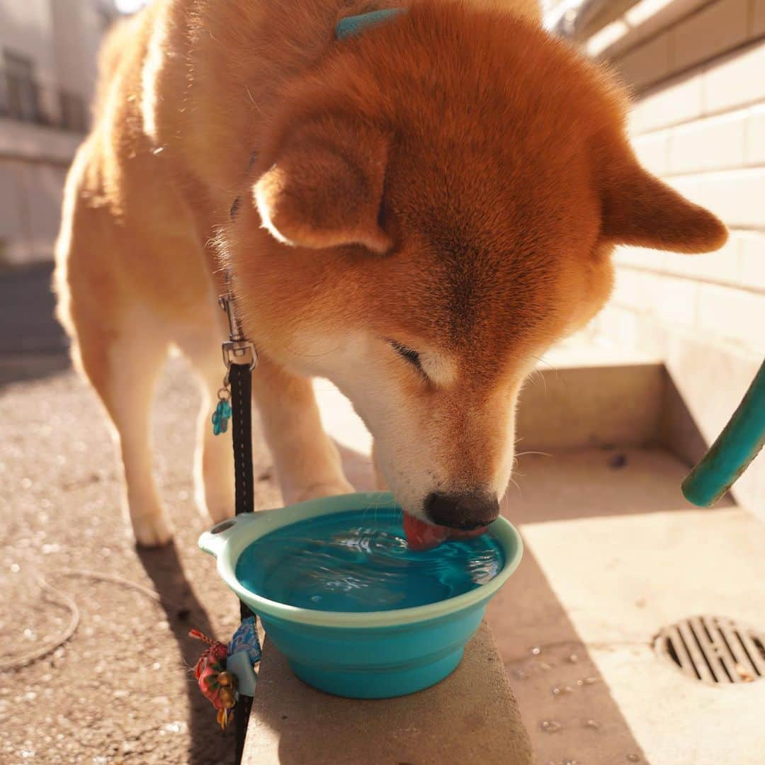
<path fill-rule="evenodd" d="M 353 491 L 321 426 L 311 380 L 260 356 L 252 383 L 285 503 Z"/>

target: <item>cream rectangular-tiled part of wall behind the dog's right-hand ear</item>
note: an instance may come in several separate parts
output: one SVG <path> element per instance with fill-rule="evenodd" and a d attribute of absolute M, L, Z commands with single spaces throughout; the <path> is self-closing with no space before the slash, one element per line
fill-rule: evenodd
<path fill-rule="evenodd" d="M 622 339 L 661 352 L 649 335 L 630 337 L 630 325 L 654 317 L 765 353 L 765 0 L 704 5 L 613 63 L 633 86 L 654 83 L 630 121 L 643 164 L 731 229 L 709 255 L 617 254 Z"/>

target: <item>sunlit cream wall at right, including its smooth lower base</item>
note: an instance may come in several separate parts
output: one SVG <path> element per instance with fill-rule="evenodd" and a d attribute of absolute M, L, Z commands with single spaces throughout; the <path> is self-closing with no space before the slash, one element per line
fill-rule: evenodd
<path fill-rule="evenodd" d="M 584 45 L 594 52 L 610 34 L 600 57 L 636 91 L 637 154 L 721 216 L 731 239 L 702 256 L 621 250 L 592 331 L 661 356 L 709 443 L 765 354 L 765 0 L 664 5 L 648 32 L 623 16 Z M 737 497 L 765 517 L 765 457 Z"/>

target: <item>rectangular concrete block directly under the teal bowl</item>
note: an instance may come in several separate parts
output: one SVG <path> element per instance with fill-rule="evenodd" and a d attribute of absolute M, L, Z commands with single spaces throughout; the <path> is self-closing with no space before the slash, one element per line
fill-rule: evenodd
<path fill-rule="evenodd" d="M 310 688 L 266 639 L 244 765 L 532 765 L 529 736 L 486 624 L 431 688 L 374 701 Z"/>

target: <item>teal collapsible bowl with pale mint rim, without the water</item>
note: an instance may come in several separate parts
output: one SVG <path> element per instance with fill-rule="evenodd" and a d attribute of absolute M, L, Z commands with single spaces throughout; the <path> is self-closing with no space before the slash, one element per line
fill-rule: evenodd
<path fill-rule="evenodd" d="M 444 601 L 399 610 L 298 608 L 261 597 L 236 578 L 239 555 L 256 539 L 298 521 L 363 509 L 399 508 L 389 493 L 331 496 L 220 522 L 200 536 L 199 546 L 217 558 L 220 577 L 258 614 L 269 640 L 304 682 L 350 698 L 402 696 L 456 669 L 490 597 L 518 567 L 522 542 L 512 524 L 496 519 L 489 533 L 500 543 L 504 565 L 493 579 Z"/>

